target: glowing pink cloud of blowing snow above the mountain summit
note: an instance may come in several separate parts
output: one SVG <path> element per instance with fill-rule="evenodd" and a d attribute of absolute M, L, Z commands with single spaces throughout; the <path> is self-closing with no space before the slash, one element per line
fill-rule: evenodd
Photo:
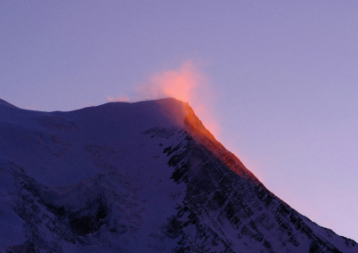
<path fill-rule="evenodd" d="M 146 78 L 134 88 L 134 95 L 108 97 L 110 102 L 137 102 L 174 97 L 189 102 L 195 113 L 203 121 L 207 129 L 218 135 L 219 127 L 214 120 L 212 110 L 213 96 L 207 84 L 207 78 L 200 71 L 199 65 L 192 61 L 184 61 L 178 69 L 166 69 Z"/>

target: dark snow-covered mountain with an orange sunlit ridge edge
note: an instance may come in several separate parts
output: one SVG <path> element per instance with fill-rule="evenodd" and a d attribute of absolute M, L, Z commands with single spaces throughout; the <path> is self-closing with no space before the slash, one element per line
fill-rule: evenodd
<path fill-rule="evenodd" d="M 358 252 L 261 184 L 175 99 L 0 101 L 0 252 Z"/>

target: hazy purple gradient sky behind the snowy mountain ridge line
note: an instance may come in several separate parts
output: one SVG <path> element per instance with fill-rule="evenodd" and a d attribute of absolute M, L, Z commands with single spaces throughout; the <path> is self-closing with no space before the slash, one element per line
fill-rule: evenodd
<path fill-rule="evenodd" d="M 0 98 L 76 110 L 186 75 L 181 98 L 270 191 L 358 241 L 357 13 L 328 0 L 0 1 Z"/>

